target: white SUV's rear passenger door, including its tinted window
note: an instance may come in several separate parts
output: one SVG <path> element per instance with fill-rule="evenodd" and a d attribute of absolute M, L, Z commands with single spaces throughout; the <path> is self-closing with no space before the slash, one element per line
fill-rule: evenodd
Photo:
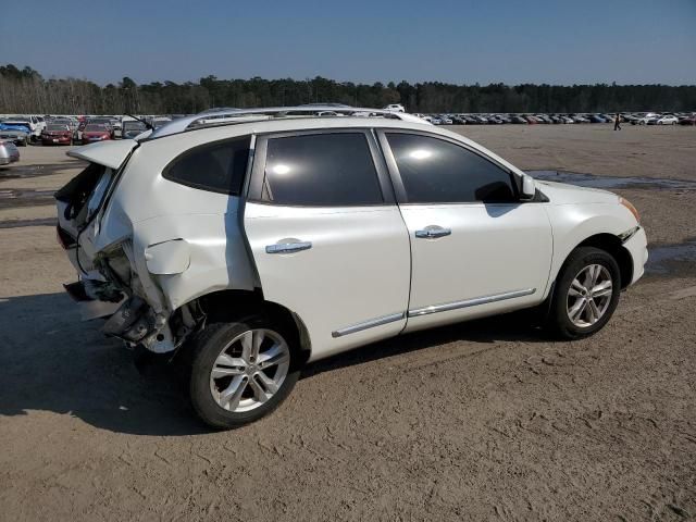
<path fill-rule="evenodd" d="M 369 130 L 261 136 L 244 225 L 266 300 L 302 320 L 312 359 L 398 334 L 409 238 Z"/>

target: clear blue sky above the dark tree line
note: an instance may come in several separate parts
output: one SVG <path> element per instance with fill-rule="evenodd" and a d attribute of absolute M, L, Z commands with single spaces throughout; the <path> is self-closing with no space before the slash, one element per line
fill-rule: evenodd
<path fill-rule="evenodd" d="M 0 63 L 100 84 L 696 84 L 696 0 L 2 3 Z"/>

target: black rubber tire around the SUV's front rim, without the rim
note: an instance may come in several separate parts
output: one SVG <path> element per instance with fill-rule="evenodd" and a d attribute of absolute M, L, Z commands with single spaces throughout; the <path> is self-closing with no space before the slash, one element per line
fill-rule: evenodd
<path fill-rule="evenodd" d="M 612 294 L 608 307 L 599 320 L 592 325 L 581 327 L 574 324 L 569 316 L 569 290 L 575 276 L 591 264 L 599 264 L 608 271 L 611 277 Z M 568 257 L 556 278 L 547 326 L 554 334 L 564 339 L 580 339 L 597 333 L 609 322 L 617 309 L 620 289 L 621 271 L 611 254 L 594 247 L 576 248 Z"/>

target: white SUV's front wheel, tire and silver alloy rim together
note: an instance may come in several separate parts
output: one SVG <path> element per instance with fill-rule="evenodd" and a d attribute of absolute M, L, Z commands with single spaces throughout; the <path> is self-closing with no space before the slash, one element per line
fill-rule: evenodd
<path fill-rule="evenodd" d="M 557 278 L 551 328 L 567 339 L 598 332 L 613 314 L 620 290 L 621 273 L 613 257 L 594 247 L 575 249 Z"/>

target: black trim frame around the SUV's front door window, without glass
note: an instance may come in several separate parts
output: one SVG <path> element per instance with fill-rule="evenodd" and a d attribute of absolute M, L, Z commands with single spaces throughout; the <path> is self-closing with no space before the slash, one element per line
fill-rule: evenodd
<path fill-rule="evenodd" d="M 382 147 L 382 152 L 384 153 L 384 159 L 387 163 L 387 167 L 389 171 L 389 176 L 391 177 L 391 183 L 394 185 L 394 190 L 396 192 L 396 199 L 398 204 L 413 204 L 413 206 L 422 206 L 422 204 L 428 204 L 428 206 L 440 206 L 440 204 L 485 204 L 485 206 L 507 206 L 507 204 L 521 204 L 521 203 L 526 203 L 526 202 L 534 202 L 533 200 L 523 200 L 520 198 L 520 195 L 522 194 L 522 179 L 520 178 L 520 176 L 518 176 L 514 172 L 512 172 L 510 169 L 508 169 L 507 166 L 505 166 L 504 164 L 501 164 L 500 162 L 496 161 L 495 159 L 484 154 L 483 152 L 481 152 L 480 150 L 476 150 L 475 148 L 469 146 L 468 144 L 464 144 L 462 141 L 459 141 L 455 138 L 451 138 L 449 136 L 444 136 L 442 134 L 437 134 L 437 133 L 428 133 L 426 130 L 417 130 L 417 129 L 410 129 L 410 128 L 399 128 L 399 127 L 378 127 L 375 129 L 377 133 L 377 138 L 380 141 L 380 146 Z M 409 135 L 415 135 L 415 136 L 424 136 L 427 138 L 435 138 L 435 139 L 439 139 L 442 141 L 447 141 L 450 142 L 452 145 L 459 146 L 462 149 L 465 149 L 470 152 L 475 153 L 476 156 L 478 156 L 480 158 L 483 158 L 486 161 L 489 161 L 490 163 L 493 163 L 494 165 L 496 165 L 497 167 L 501 169 L 504 172 L 507 172 L 508 175 L 510 176 L 510 181 L 512 182 L 512 187 L 514 190 L 514 199 L 512 201 L 490 201 L 490 202 L 486 202 L 486 201 L 427 201 L 427 202 L 419 202 L 419 201 L 409 201 L 408 195 L 406 192 L 406 187 L 403 186 L 403 181 L 401 179 L 401 173 L 399 172 L 399 167 L 396 163 L 396 158 L 394 157 L 394 152 L 391 151 L 391 147 L 389 146 L 389 142 L 387 140 L 387 134 L 409 134 Z"/>

